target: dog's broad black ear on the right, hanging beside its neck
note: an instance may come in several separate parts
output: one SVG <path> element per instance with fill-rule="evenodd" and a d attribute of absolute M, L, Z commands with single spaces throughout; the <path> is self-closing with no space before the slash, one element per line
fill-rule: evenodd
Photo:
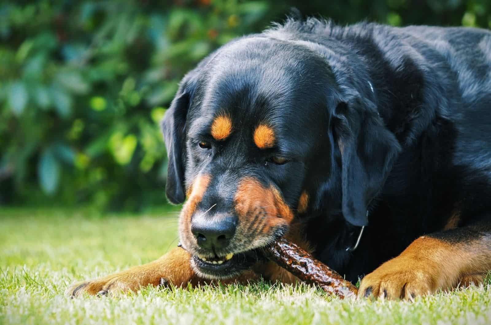
<path fill-rule="evenodd" d="M 401 146 L 373 104 L 359 97 L 338 104 L 333 122 L 341 153 L 343 215 L 351 224 L 364 226 L 367 207 L 382 190 Z"/>

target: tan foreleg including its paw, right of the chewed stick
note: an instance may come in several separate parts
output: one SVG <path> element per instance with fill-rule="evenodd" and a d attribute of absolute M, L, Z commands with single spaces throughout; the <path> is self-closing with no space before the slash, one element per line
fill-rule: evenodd
<path fill-rule="evenodd" d="M 398 257 L 383 263 L 361 281 L 359 296 L 371 288 L 375 297 L 412 298 L 455 288 L 469 275 L 491 269 L 491 254 L 480 240 L 450 244 L 422 236 Z"/>

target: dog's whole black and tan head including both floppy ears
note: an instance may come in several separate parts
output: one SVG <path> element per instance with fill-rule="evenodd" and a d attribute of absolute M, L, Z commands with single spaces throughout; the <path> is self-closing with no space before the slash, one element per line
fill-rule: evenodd
<path fill-rule="evenodd" d="M 338 79 L 313 49 L 259 36 L 184 77 L 162 122 L 166 194 L 187 199 L 180 239 L 199 275 L 237 275 L 302 216 L 367 222 L 398 144 Z"/>

